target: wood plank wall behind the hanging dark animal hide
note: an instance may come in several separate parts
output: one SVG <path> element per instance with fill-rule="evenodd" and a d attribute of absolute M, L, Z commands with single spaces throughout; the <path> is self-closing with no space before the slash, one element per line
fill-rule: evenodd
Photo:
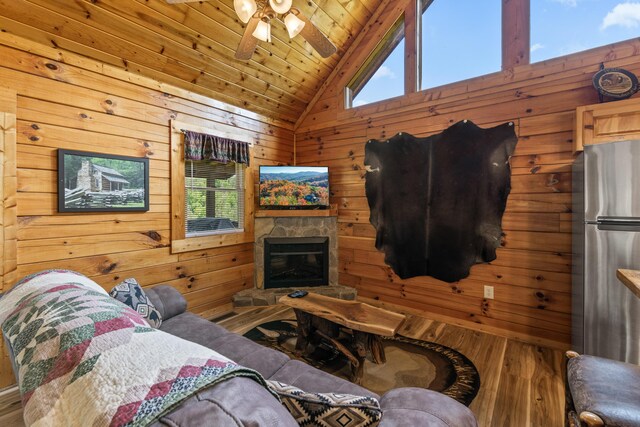
<path fill-rule="evenodd" d="M 574 112 L 597 103 L 591 78 L 601 62 L 640 73 L 640 39 L 345 110 L 344 85 L 384 28 L 369 26 L 371 34 L 343 58 L 296 128 L 298 164 L 330 167 L 332 203 L 339 206 L 340 284 L 384 305 L 568 348 Z M 494 262 L 474 266 L 457 283 L 401 280 L 374 246 L 364 191 L 365 143 L 401 131 L 427 136 L 464 119 L 482 127 L 507 121 L 517 126 L 502 248 Z M 495 287 L 495 299 L 483 298 L 484 285 Z"/>

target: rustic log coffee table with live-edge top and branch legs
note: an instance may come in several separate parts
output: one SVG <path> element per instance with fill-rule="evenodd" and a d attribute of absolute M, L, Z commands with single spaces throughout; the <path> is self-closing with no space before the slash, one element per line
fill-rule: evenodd
<path fill-rule="evenodd" d="M 371 354 L 374 363 L 385 363 L 381 337 L 392 337 L 405 320 L 404 315 L 358 301 L 309 292 L 302 298 L 283 296 L 280 303 L 293 308 L 298 321 L 296 351 L 306 352 L 318 337 L 329 341 L 351 362 L 352 381 L 362 380 L 364 360 Z M 350 329 L 348 345 L 338 341 L 342 327 Z"/>

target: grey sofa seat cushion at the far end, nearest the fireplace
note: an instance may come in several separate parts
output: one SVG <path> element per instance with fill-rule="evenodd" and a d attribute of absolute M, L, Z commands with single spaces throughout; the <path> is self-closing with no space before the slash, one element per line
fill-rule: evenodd
<path fill-rule="evenodd" d="M 182 313 L 165 321 L 161 330 L 211 348 L 239 365 L 260 372 L 265 378 L 289 361 L 286 354 L 231 333 L 193 313 Z"/>

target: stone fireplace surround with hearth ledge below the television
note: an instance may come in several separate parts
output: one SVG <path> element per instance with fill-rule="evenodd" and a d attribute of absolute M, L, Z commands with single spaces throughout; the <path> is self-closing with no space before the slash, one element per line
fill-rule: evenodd
<path fill-rule="evenodd" d="M 276 304 L 278 298 L 282 295 L 286 295 L 294 289 L 309 288 L 309 290 L 324 295 L 330 295 L 343 299 L 355 299 L 356 290 L 347 286 L 338 285 L 338 224 L 336 216 L 276 216 L 277 213 L 273 213 L 273 216 L 259 216 L 255 218 L 255 245 L 254 245 L 254 289 L 241 291 L 234 295 L 233 302 L 236 307 L 251 306 L 251 305 L 272 305 Z M 286 215 L 286 214 L 285 214 Z M 284 240 L 279 240 L 284 239 Z M 307 239 L 307 240 L 305 240 Z M 309 240 L 310 239 L 310 240 Z M 267 242 L 284 242 L 285 244 L 298 242 L 305 245 L 309 242 L 327 240 L 327 272 L 328 283 L 321 284 L 311 282 L 303 286 L 304 280 L 289 282 L 290 286 L 285 283 L 287 280 L 292 279 L 289 276 L 285 279 L 285 282 L 281 282 L 284 287 L 270 287 L 265 288 L 265 240 Z M 306 242 L 306 243 L 305 243 Z M 286 247 L 281 252 L 291 253 L 289 250 L 291 247 Z M 314 258 L 311 264 L 318 261 L 316 256 L 318 255 L 317 248 L 309 246 L 303 246 L 302 251 L 314 252 L 311 258 Z M 301 269 L 313 270 L 315 267 L 311 267 L 309 264 L 310 258 L 305 256 L 298 256 L 297 260 L 285 261 L 283 258 L 278 257 L 276 262 L 280 268 L 279 272 L 287 272 L 293 265 L 298 266 L 298 271 L 295 275 L 300 273 Z M 289 262 L 289 264 L 287 264 Z M 293 264 L 291 264 L 293 262 Z M 298 264 L 296 264 L 296 262 Z M 324 261 L 323 261 L 324 262 Z M 328 285 L 328 286 L 327 286 Z"/>

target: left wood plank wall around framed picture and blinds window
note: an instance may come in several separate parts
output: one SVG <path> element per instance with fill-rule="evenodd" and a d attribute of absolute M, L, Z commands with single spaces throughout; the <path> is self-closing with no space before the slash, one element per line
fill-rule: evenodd
<path fill-rule="evenodd" d="M 5 33 L 0 86 L 17 92 L 18 278 L 66 268 L 107 290 L 166 283 L 197 313 L 253 286 L 251 243 L 171 254 L 169 120 L 248 135 L 257 165 L 292 162 L 291 124 Z M 148 157 L 149 212 L 58 214 L 58 148 Z M 0 367 L 0 387 L 13 383 L 6 355 Z"/>

